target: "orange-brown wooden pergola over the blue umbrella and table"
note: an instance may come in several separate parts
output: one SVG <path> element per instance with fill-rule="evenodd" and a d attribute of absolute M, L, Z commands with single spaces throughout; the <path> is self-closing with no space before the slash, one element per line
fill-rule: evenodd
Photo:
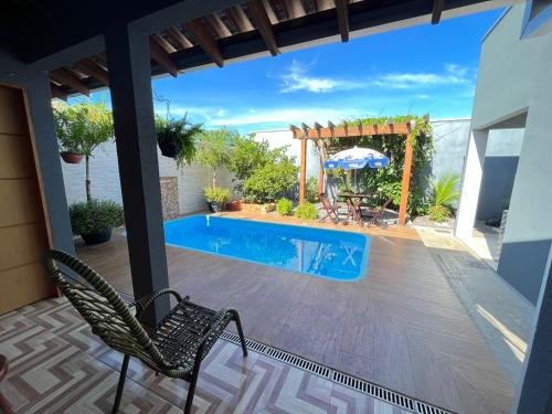
<path fill-rule="evenodd" d="M 406 137 L 405 139 L 405 156 L 404 156 L 404 168 L 403 168 L 403 180 L 401 190 L 401 203 L 399 208 L 399 224 L 404 225 L 406 223 L 406 206 L 408 203 L 408 190 L 411 182 L 411 170 L 412 170 L 412 158 L 413 158 L 413 146 L 412 146 L 412 129 L 414 128 L 414 121 L 392 124 L 388 123 L 384 125 L 362 125 L 362 124 L 348 124 L 342 123 L 340 126 L 336 126 L 332 123 L 328 123 L 327 127 L 322 127 L 320 124 L 315 123 L 311 128 L 306 124 L 298 128 L 294 125 L 289 126 L 289 129 L 294 134 L 294 138 L 301 141 L 301 156 L 300 156 L 300 179 L 299 179 L 299 202 L 305 200 L 305 188 L 306 188 L 306 176 L 307 176 L 307 140 L 312 139 L 327 139 L 327 138 L 354 138 L 354 137 L 365 137 L 371 135 L 383 135 L 393 136 L 396 138 L 399 135 Z M 320 159 L 320 177 L 318 179 L 318 191 L 323 191 L 323 174 L 325 169 L 322 160 Z"/>

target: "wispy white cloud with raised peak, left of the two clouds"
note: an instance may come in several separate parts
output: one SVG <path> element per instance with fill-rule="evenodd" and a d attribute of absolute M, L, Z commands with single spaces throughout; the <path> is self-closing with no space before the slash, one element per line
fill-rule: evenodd
<path fill-rule="evenodd" d="M 361 86 L 360 83 L 353 81 L 310 76 L 307 66 L 298 61 L 291 62 L 287 72 L 280 75 L 280 79 L 282 87 L 279 91 L 284 94 L 301 91 L 320 94 L 348 91 Z"/>

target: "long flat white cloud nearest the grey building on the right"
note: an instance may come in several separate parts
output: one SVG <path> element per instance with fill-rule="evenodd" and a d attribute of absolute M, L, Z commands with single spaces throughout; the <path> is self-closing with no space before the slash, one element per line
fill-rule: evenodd
<path fill-rule="evenodd" d="M 413 89 L 421 87 L 466 85 L 471 78 L 468 68 L 453 63 L 446 64 L 440 73 L 390 73 L 374 81 L 375 86 L 392 89 Z"/>

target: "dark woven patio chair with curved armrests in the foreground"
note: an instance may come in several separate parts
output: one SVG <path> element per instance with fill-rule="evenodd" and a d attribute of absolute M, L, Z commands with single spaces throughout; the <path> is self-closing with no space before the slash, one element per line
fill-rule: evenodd
<path fill-rule="evenodd" d="M 190 386 L 184 405 L 188 414 L 192 408 L 201 361 L 231 321 L 236 323 L 243 354 L 247 355 L 242 323 L 234 309 L 214 311 L 192 304 L 188 297 L 182 298 L 171 289 L 153 291 L 127 305 L 109 283 L 67 253 L 52 250 L 43 256 L 43 264 L 55 286 L 91 325 L 93 333 L 125 354 L 113 413 L 120 404 L 130 357 L 158 373 L 188 381 Z M 66 273 L 66 268 L 85 283 Z M 140 316 L 162 295 L 172 295 L 177 305 L 157 327 L 142 326 Z M 136 316 L 130 311 L 132 307 Z"/>

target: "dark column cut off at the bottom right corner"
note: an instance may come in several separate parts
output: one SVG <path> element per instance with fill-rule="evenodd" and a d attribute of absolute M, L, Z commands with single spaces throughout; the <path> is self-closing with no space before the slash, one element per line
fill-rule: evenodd
<path fill-rule="evenodd" d="M 551 252 L 552 256 L 552 252 Z M 542 282 L 513 413 L 552 412 L 552 266 Z"/>

